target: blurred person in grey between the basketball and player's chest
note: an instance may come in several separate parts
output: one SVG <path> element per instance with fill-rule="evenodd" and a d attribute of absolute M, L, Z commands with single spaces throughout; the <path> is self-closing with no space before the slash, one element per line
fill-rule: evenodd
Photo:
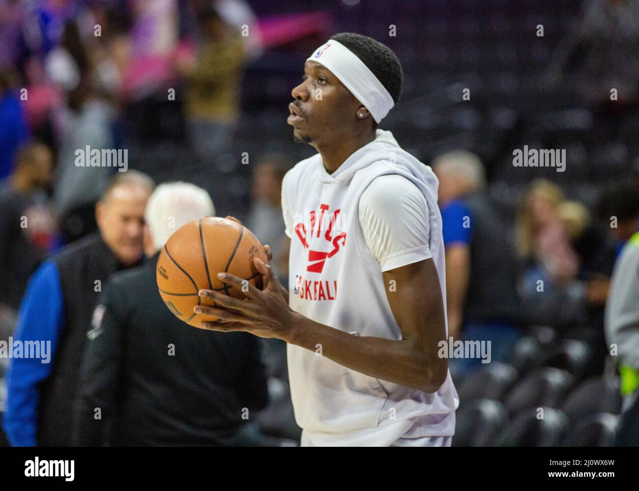
<path fill-rule="evenodd" d="M 289 169 L 286 155 L 268 153 L 261 156 L 253 170 L 252 203 L 247 227 L 273 253 L 273 270 L 280 281 L 288 277 L 288 237 L 284 234 L 282 218 L 282 179 Z M 282 266 L 286 264 L 286 268 Z"/>

